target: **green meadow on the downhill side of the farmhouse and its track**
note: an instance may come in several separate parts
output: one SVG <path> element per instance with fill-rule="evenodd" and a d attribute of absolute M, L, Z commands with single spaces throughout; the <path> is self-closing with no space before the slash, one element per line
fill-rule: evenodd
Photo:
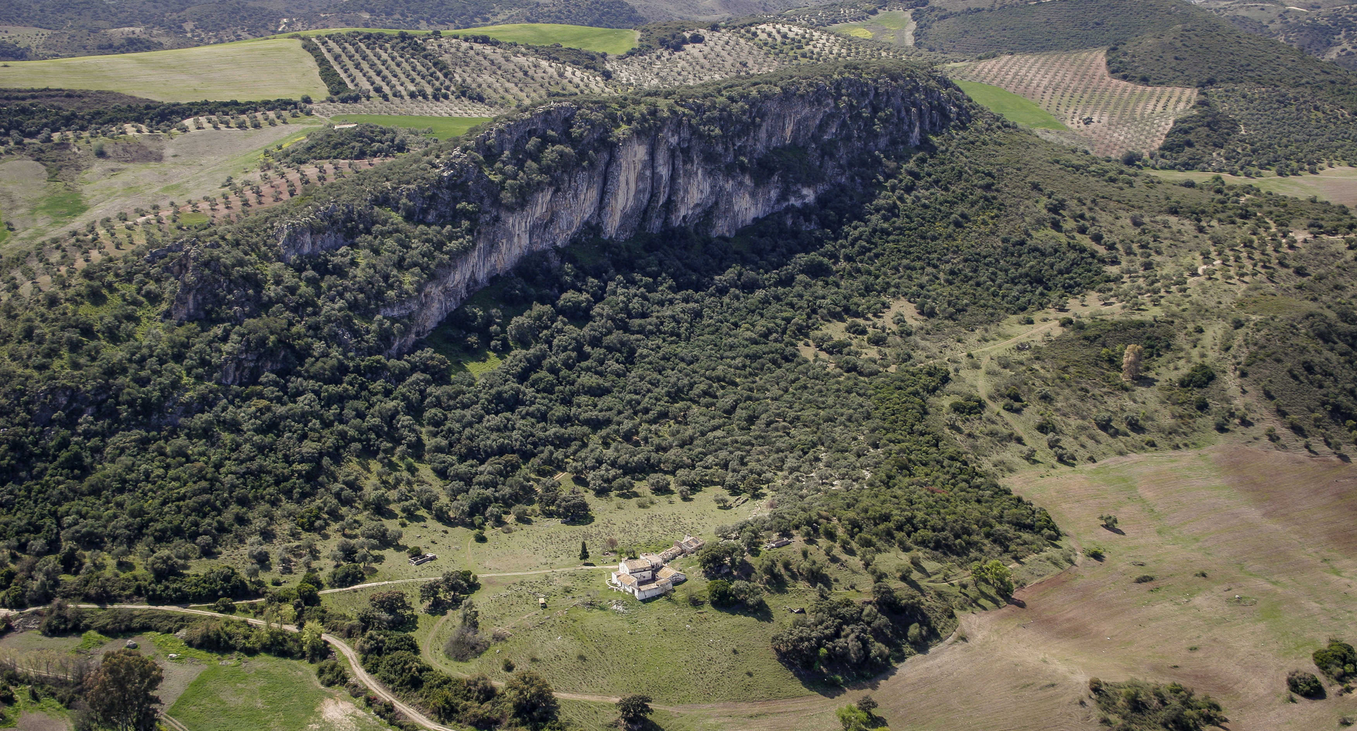
<path fill-rule="evenodd" d="M 683 563 L 683 561 L 681 561 Z M 532 667 L 556 690 L 603 696 L 646 693 L 657 703 L 786 698 L 810 692 L 769 651 L 778 629 L 807 606 L 806 587 L 768 595 L 769 609 L 734 613 L 693 606 L 706 580 L 688 568 L 688 582 L 673 594 L 638 602 L 609 591 L 607 572 L 528 576 L 509 583 L 487 579 L 476 598 L 482 623 L 510 633 L 479 658 L 457 663 L 442 655 L 456 617 L 434 625 L 427 636 L 430 662 L 455 673 L 486 673 L 505 679 L 503 660 Z M 547 597 L 547 609 L 537 597 Z"/>

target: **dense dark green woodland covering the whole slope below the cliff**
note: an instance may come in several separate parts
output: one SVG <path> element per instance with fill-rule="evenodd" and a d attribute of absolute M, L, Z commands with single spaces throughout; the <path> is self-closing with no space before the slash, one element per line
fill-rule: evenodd
<path fill-rule="evenodd" d="M 636 110 L 693 94 L 601 108 L 635 122 Z M 351 144 L 342 132 L 315 144 Z M 866 193 L 730 240 L 673 232 L 529 259 L 399 357 L 385 353 L 404 325 L 377 308 L 442 266 L 471 222 L 415 225 L 402 216 L 410 201 L 389 191 L 437 178 L 446 146 L 286 212 L 339 212 L 351 245 L 285 262 L 274 216 L 208 235 L 191 250 L 205 278 L 198 319 L 164 319 L 182 297 L 180 247 L 16 293 L 0 304 L 0 532 L 26 557 L 0 576 L 4 601 L 252 594 L 248 572 L 194 576 L 186 564 L 252 537 L 299 541 L 277 560 L 305 564 L 319 552 L 303 538 L 323 529 L 343 534 L 331 582 L 353 585 L 400 540 L 373 517 L 483 528 L 533 503 L 585 517 L 581 495 L 543 479 L 558 471 L 600 494 L 775 492 L 776 510 L 733 529 L 746 545 L 801 533 L 957 563 L 1031 553 L 1056 528 L 942 433 L 928 400 L 949 372 L 912 366 L 912 328 L 877 319 L 890 300 L 965 324 L 1111 292 L 1107 264 L 1159 245 L 1144 221 L 1125 240 L 1101 233 L 1128 212 L 1202 228 L 1267 216 L 1339 232 L 1353 221 L 1323 203 L 1156 184 L 1019 134 L 992 121 L 940 134 L 877 163 Z M 499 161 L 527 168 L 518 155 Z M 1156 290 L 1177 275 L 1133 270 Z M 845 320 L 870 351 L 825 334 Z M 1151 331 L 1088 327 L 1080 336 L 1107 351 L 1087 366 L 1098 378 L 1117 380 L 1132 339 L 1151 361 L 1160 350 Z M 829 357 L 806 359 L 797 347 L 810 343 Z M 479 378 L 457 365 L 491 353 L 501 365 Z M 1182 391 L 1185 404 L 1210 408 Z M 1012 408 L 1037 396 L 1014 393 Z M 836 481 L 856 490 L 825 490 Z M 814 566 L 780 571 L 817 583 Z M 453 594 L 426 599 L 456 606 Z M 902 648 L 913 624 L 927 629 L 916 618 L 875 641 Z"/>

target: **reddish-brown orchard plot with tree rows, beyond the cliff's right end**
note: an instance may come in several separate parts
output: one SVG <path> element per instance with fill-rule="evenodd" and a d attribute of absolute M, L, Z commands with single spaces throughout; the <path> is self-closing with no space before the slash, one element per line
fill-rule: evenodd
<path fill-rule="evenodd" d="M 953 66 L 951 75 L 1008 90 L 1035 102 L 1098 155 L 1156 149 L 1197 90 L 1143 87 L 1113 79 L 1102 49 L 1012 54 Z"/>

